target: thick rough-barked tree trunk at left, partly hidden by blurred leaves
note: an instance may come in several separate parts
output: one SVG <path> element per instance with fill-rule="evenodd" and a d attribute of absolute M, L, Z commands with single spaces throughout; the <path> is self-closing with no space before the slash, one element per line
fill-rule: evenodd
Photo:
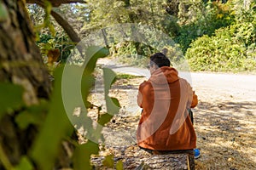
<path fill-rule="evenodd" d="M 24 2 L 0 1 L 0 82 L 19 84 L 25 90 L 25 104 L 35 105 L 39 98 L 49 99 L 51 83 Z M 36 127 L 21 131 L 15 123 L 15 114 L 6 114 L 0 120 L 0 149 L 12 165 L 27 154 L 36 131 Z"/>

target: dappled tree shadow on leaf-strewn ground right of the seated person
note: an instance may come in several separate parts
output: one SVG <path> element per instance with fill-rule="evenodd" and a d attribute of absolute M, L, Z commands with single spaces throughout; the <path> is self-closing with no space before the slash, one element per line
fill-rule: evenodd
<path fill-rule="evenodd" d="M 197 169 L 256 169 L 256 102 L 200 102 Z"/>

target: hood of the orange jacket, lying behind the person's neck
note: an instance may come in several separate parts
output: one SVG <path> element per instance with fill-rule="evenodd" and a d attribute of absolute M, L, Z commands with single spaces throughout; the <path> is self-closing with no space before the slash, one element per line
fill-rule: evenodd
<path fill-rule="evenodd" d="M 150 82 L 155 84 L 165 84 L 166 82 L 171 83 L 178 80 L 177 70 L 173 67 L 163 66 L 152 72 L 149 78 Z"/>

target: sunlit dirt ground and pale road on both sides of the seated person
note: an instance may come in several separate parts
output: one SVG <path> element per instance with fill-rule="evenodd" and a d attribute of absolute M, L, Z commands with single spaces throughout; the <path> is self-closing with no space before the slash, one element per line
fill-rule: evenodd
<path fill-rule="evenodd" d="M 116 72 L 148 76 L 147 70 L 103 63 Z M 192 84 L 199 97 L 194 114 L 201 158 L 195 161 L 196 168 L 256 169 L 256 76 L 183 72 L 180 76 Z M 105 131 L 108 144 L 136 144 L 137 88 L 145 79 L 120 80 L 113 85 L 111 94 L 122 109 Z"/>

